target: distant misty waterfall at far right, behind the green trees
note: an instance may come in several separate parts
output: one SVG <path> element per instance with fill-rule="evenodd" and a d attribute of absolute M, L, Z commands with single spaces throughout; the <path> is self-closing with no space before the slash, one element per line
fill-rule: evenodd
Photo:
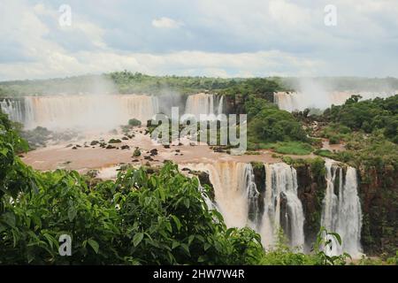
<path fill-rule="evenodd" d="M 396 92 L 321 92 L 316 94 L 302 92 L 277 92 L 274 94 L 274 102 L 279 109 L 292 111 L 303 111 L 306 108 L 316 108 L 325 110 L 334 105 L 341 105 L 353 95 L 360 95 L 363 99 L 373 99 L 376 97 L 386 98 L 394 96 Z"/>

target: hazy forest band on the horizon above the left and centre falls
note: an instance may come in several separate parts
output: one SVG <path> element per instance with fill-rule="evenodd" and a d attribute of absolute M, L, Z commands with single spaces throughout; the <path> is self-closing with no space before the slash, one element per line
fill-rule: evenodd
<path fill-rule="evenodd" d="M 102 75 L 82 75 L 63 79 L 15 80 L 0 82 L 1 96 L 77 94 L 77 93 L 149 93 L 193 94 L 202 91 L 244 94 L 273 91 L 279 88 L 277 79 L 222 79 L 207 77 L 150 76 L 127 71 L 104 73 Z"/>

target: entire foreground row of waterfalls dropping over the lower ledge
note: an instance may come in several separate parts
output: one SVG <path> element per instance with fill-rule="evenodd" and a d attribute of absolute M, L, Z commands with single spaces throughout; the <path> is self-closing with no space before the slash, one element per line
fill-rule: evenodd
<path fill-rule="evenodd" d="M 264 191 L 259 191 L 251 164 L 217 162 L 184 164 L 191 170 L 208 172 L 214 187 L 214 206 L 226 226 L 249 226 L 260 233 L 265 249 L 272 249 L 283 231 L 291 247 L 303 249 L 305 218 L 297 195 L 295 168 L 288 164 L 264 164 Z M 340 247 L 333 243 L 332 255 L 348 252 L 359 256 L 362 212 L 357 195 L 356 169 L 327 160 L 327 188 L 323 201 L 321 226 L 341 235 Z M 258 181 L 258 180 L 257 180 Z M 258 184 L 258 183 L 257 183 Z"/>

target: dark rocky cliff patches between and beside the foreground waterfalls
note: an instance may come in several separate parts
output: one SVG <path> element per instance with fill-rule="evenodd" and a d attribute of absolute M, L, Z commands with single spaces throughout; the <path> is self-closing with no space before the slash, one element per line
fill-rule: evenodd
<path fill-rule="evenodd" d="M 266 172 L 264 164 L 252 163 L 256 188 L 259 192 L 257 198 L 258 211 L 261 217 L 264 212 L 264 194 Z M 338 182 L 345 182 L 346 170 L 343 168 L 342 180 L 336 178 L 334 187 L 339 187 Z M 322 162 L 303 163 L 295 165 L 297 172 L 297 196 L 302 202 L 305 217 L 304 234 L 305 248 L 309 251 L 320 228 L 322 217 L 323 200 L 325 198 L 326 180 L 325 164 Z M 382 253 L 394 254 L 397 247 L 398 226 L 398 172 L 393 167 L 376 169 L 359 168 L 358 194 L 363 212 L 363 226 L 361 230 L 361 244 L 364 254 L 368 256 L 379 256 Z M 198 174 L 201 183 L 212 187 L 209 175 L 201 172 Z M 214 200 L 214 192 L 211 199 Z M 281 216 L 286 215 L 286 200 L 281 200 Z M 285 233 L 288 231 L 288 221 L 281 217 L 280 225 Z"/>

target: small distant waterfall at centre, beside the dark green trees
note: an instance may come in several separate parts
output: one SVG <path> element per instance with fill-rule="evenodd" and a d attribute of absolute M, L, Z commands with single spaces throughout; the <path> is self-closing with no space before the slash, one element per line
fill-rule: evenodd
<path fill-rule="evenodd" d="M 217 115 L 223 112 L 223 103 L 223 96 L 204 93 L 188 96 L 185 113 L 194 115 L 197 120 L 200 119 L 201 114 L 205 115 L 206 119 L 216 119 Z"/>

